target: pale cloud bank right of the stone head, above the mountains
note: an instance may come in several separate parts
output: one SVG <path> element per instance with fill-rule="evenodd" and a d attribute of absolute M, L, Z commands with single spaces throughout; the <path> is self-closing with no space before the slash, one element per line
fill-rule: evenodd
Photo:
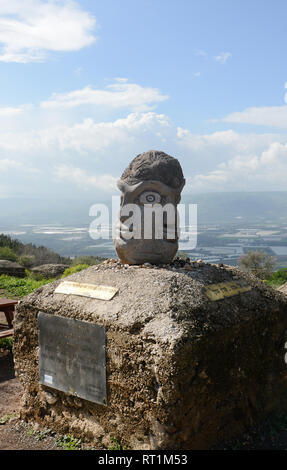
<path fill-rule="evenodd" d="M 189 152 L 186 191 L 286 190 L 286 134 L 196 135 L 178 128 L 177 136 L 183 155 Z"/>

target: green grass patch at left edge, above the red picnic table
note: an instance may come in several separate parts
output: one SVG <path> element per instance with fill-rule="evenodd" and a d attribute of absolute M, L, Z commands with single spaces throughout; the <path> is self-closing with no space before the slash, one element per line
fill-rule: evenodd
<path fill-rule="evenodd" d="M 31 277 L 19 278 L 2 274 L 0 276 L 0 289 L 5 289 L 7 294 L 12 297 L 24 297 L 25 295 L 31 294 L 31 292 L 39 287 L 53 281 L 55 281 L 55 279 L 35 280 Z"/>

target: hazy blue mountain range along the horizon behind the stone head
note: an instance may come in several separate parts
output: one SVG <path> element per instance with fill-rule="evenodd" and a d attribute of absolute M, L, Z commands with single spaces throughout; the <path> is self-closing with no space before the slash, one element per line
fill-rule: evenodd
<path fill-rule="evenodd" d="M 80 199 L 0 199 L 0 231 L 21 224 L 62 224 L 88 226 L 90 207 L 97 203 L 111 206 L 111 200 Z M 287 223 L 286 192 L 235 192 L 183 195 L 182 203 L 198 205 L 200 224 L 252 222 Z"/>

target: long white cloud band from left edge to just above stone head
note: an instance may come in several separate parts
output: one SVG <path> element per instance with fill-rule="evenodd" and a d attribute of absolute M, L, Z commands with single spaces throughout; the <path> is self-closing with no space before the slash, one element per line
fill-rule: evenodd
<path fill-rule="evenodd" d="M 58 126 L 30 132 L 0 133 L 0 149 L 21 153 L 104 152 L 107 149 L 126 149 L 137 141 L 164 141 L 173 132 L 164 114 L 131 113 L 126 118 L 96 123 L 87 118 L 72 126 Z M 52 157 L 50 157 L 52 158 Z"/>

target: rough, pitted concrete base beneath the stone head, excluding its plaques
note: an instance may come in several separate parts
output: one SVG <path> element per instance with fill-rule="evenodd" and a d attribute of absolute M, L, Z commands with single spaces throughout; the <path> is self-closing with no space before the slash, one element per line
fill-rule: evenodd
<path fill-rule="evenodd" d="M 208 284 L 244 276 L 249 292 L 211 301 Z M 108 447 L 207 449 L 287 408 L 287 299 L 234 268 L 101 264 L 66 280 L 119 288 L 110 301 L 54 294 L 17 307 L 22 416 Z M 108 406 L 38 384 L 37 314 L 105 325 Z"/>

